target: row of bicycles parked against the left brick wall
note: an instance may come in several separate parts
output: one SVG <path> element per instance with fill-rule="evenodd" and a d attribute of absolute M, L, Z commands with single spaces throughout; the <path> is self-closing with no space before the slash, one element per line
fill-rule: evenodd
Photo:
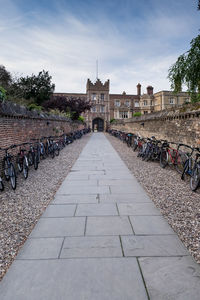
<path fill-rule="evenodd" d="M 3 174 L 6 181 L 10 181 L 13 190 L 17 186 L 17 172 L 23 173 L 25 179 L 28 178 L 28 172 L 30 166 L 33 166 L 35 170 L 38 169 L 38 164 L 41 159 L 47 157 L 54 158 L 58 156 L 60 150 L 66 145 L 73 143 L 76 139 L 80 139 L 84 134 L 89 133 L 90 128 L 84 128 L 69 134 L 62 134 L 61 136 L 48 136 L 42 138 L 31 139 L 30 142 L 11 145 L 7 148 L 0 148 L 0 151 L 4 151 L 3 157 Z M 11 155 L 11 150 L 19 149 L 17 151 L 16 160 L 14 155 Z M 4 190 L 3 179 L 0 176 L 0 191 Z"/>

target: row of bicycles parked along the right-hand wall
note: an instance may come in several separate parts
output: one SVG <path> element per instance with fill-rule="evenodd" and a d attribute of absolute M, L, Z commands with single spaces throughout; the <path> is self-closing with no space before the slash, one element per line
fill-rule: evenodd
<path fill-rule="evenodd" d="M 200 187 L 200 148 L 191 147 L 183 143 L 174 143 L 167 140 L 142 138 L 133 133 L 126 133 L 110 129 L 108 132 L 127 143 L 133 151 L 138 151 L 138 157 L 144 161 L 158 161 L 162 168 L 167 165 L 175 166 L 181 179 L 190 176 L 190 188 L 196 191 Z"/>

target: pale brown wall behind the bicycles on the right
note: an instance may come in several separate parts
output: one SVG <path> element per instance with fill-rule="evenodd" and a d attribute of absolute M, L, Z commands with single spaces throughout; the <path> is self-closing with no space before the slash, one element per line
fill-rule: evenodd
<path fill-rule="evenodd" d="M 200 104 L 115 121 L 111 128 L 133 132 L 142 137 L 200 145 Z"/>

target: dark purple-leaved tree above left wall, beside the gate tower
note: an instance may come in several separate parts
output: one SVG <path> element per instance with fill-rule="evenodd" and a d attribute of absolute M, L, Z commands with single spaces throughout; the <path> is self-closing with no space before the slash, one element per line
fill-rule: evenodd
<path fill-rule="evenodd" d="M 59 109 L 60 112 L 70 112 L 73 120 L 78 120 L 81 113 L 90 110 L 91 103 L 86 98 L 54 96 L 43 104 L 45 109 Z"/>

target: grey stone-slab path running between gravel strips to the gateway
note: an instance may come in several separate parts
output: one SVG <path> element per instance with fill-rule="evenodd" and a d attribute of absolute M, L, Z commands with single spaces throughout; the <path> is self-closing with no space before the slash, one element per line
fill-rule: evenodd
<path fill-rule="evenodd" d="M 1 300 L 199 300 L 200 266 L 103 133 L 0 283 Z"/>

